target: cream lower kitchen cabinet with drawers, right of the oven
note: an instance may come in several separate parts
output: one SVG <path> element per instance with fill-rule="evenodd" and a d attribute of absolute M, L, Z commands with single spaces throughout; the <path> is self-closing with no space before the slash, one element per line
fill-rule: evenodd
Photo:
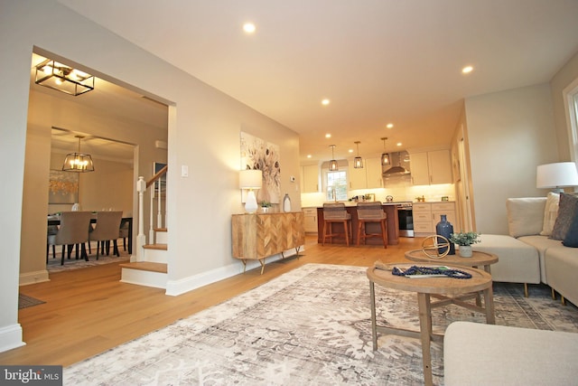
<path fill-rule="evenodd" d="M 425 237 L 435 234 L 435 225 L 440 222 L 442 214 L 452 223 L 453 231 L 459 231 L 456 223 L 455 202 L 414 202 L 414 234 Z"/>

